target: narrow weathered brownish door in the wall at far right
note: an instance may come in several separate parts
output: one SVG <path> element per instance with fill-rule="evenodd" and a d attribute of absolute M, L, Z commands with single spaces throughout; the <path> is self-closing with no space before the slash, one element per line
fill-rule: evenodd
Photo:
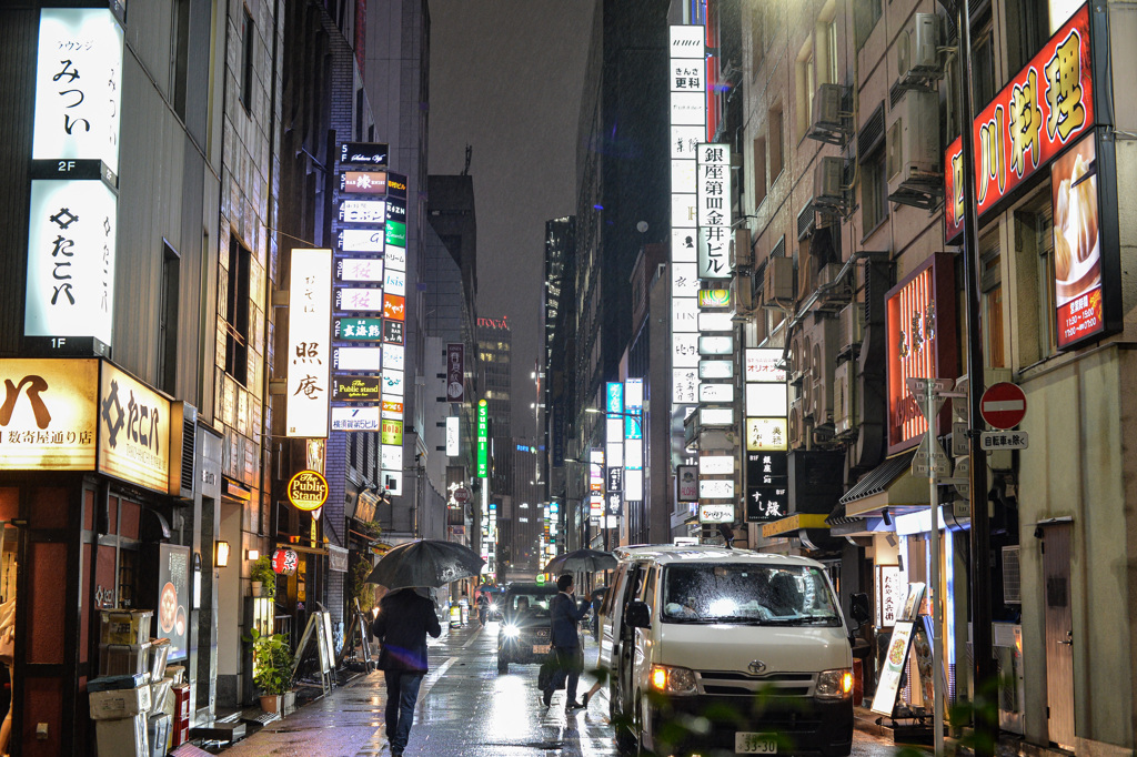
<path fill-rule="evenodd" d="M 1051 742 L 1073 750 L 1073 614 L 1070 608 L 1070 523 L 1043 526 L 1046 597 L 1046 705 Z"/>

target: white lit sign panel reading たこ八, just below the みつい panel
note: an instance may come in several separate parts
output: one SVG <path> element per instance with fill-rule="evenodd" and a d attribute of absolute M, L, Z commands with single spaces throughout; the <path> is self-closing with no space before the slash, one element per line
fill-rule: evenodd
<path fill-rule="evenodd" d="M 44 11 L 47 13 L 47 11 Z M 24 334 L 111 343 L 115 192 L 99 180 L 32 181 Z"/>

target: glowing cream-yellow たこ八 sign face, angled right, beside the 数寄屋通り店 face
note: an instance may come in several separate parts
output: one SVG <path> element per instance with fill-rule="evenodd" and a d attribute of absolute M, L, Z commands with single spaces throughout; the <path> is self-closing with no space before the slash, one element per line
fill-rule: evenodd
<path fill-rule="evenodd" d="M 99 377 L 99 471 L 148 489 L 169 491 L 169 400 L 103 361 Z"/>

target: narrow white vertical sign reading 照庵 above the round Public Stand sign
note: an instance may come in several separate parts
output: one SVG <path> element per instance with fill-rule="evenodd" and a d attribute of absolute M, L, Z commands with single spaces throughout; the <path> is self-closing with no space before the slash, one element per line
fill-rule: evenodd
<path fill-rule="evenodd" d="M 327 436 L 331 356 L 331 250 L 292 250 L 289 286 L 288 436 Z"/>

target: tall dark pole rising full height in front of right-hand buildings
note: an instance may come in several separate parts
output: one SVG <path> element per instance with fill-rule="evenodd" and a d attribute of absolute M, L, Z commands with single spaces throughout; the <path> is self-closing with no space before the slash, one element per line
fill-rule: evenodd
<path fill-rule="evenodd" d="M 984 393 L 984 344 L 979 322 L 979 247 L 976 243 L 979 218 L 976 213 L 976 164 L 972 143 L 971 93 L 971 14 L 968 0 L 954 0 L 956 26 L 960 30 L 960 122 L 963 163 L 963 283 L 966 299 L 968 330 L 968 441 L 971 463 L 971 649 L 972 687 L 976 700 L 980 690 L 995 682 L 991 648 L 990 522 L 987 516 L 987 454 L 979 446 L 982 416 L 979 411 Z M 985 715 L 984 706 L 973 708 L 976 757 L 990 757 L 998 741 L 998 721 Z"/>

